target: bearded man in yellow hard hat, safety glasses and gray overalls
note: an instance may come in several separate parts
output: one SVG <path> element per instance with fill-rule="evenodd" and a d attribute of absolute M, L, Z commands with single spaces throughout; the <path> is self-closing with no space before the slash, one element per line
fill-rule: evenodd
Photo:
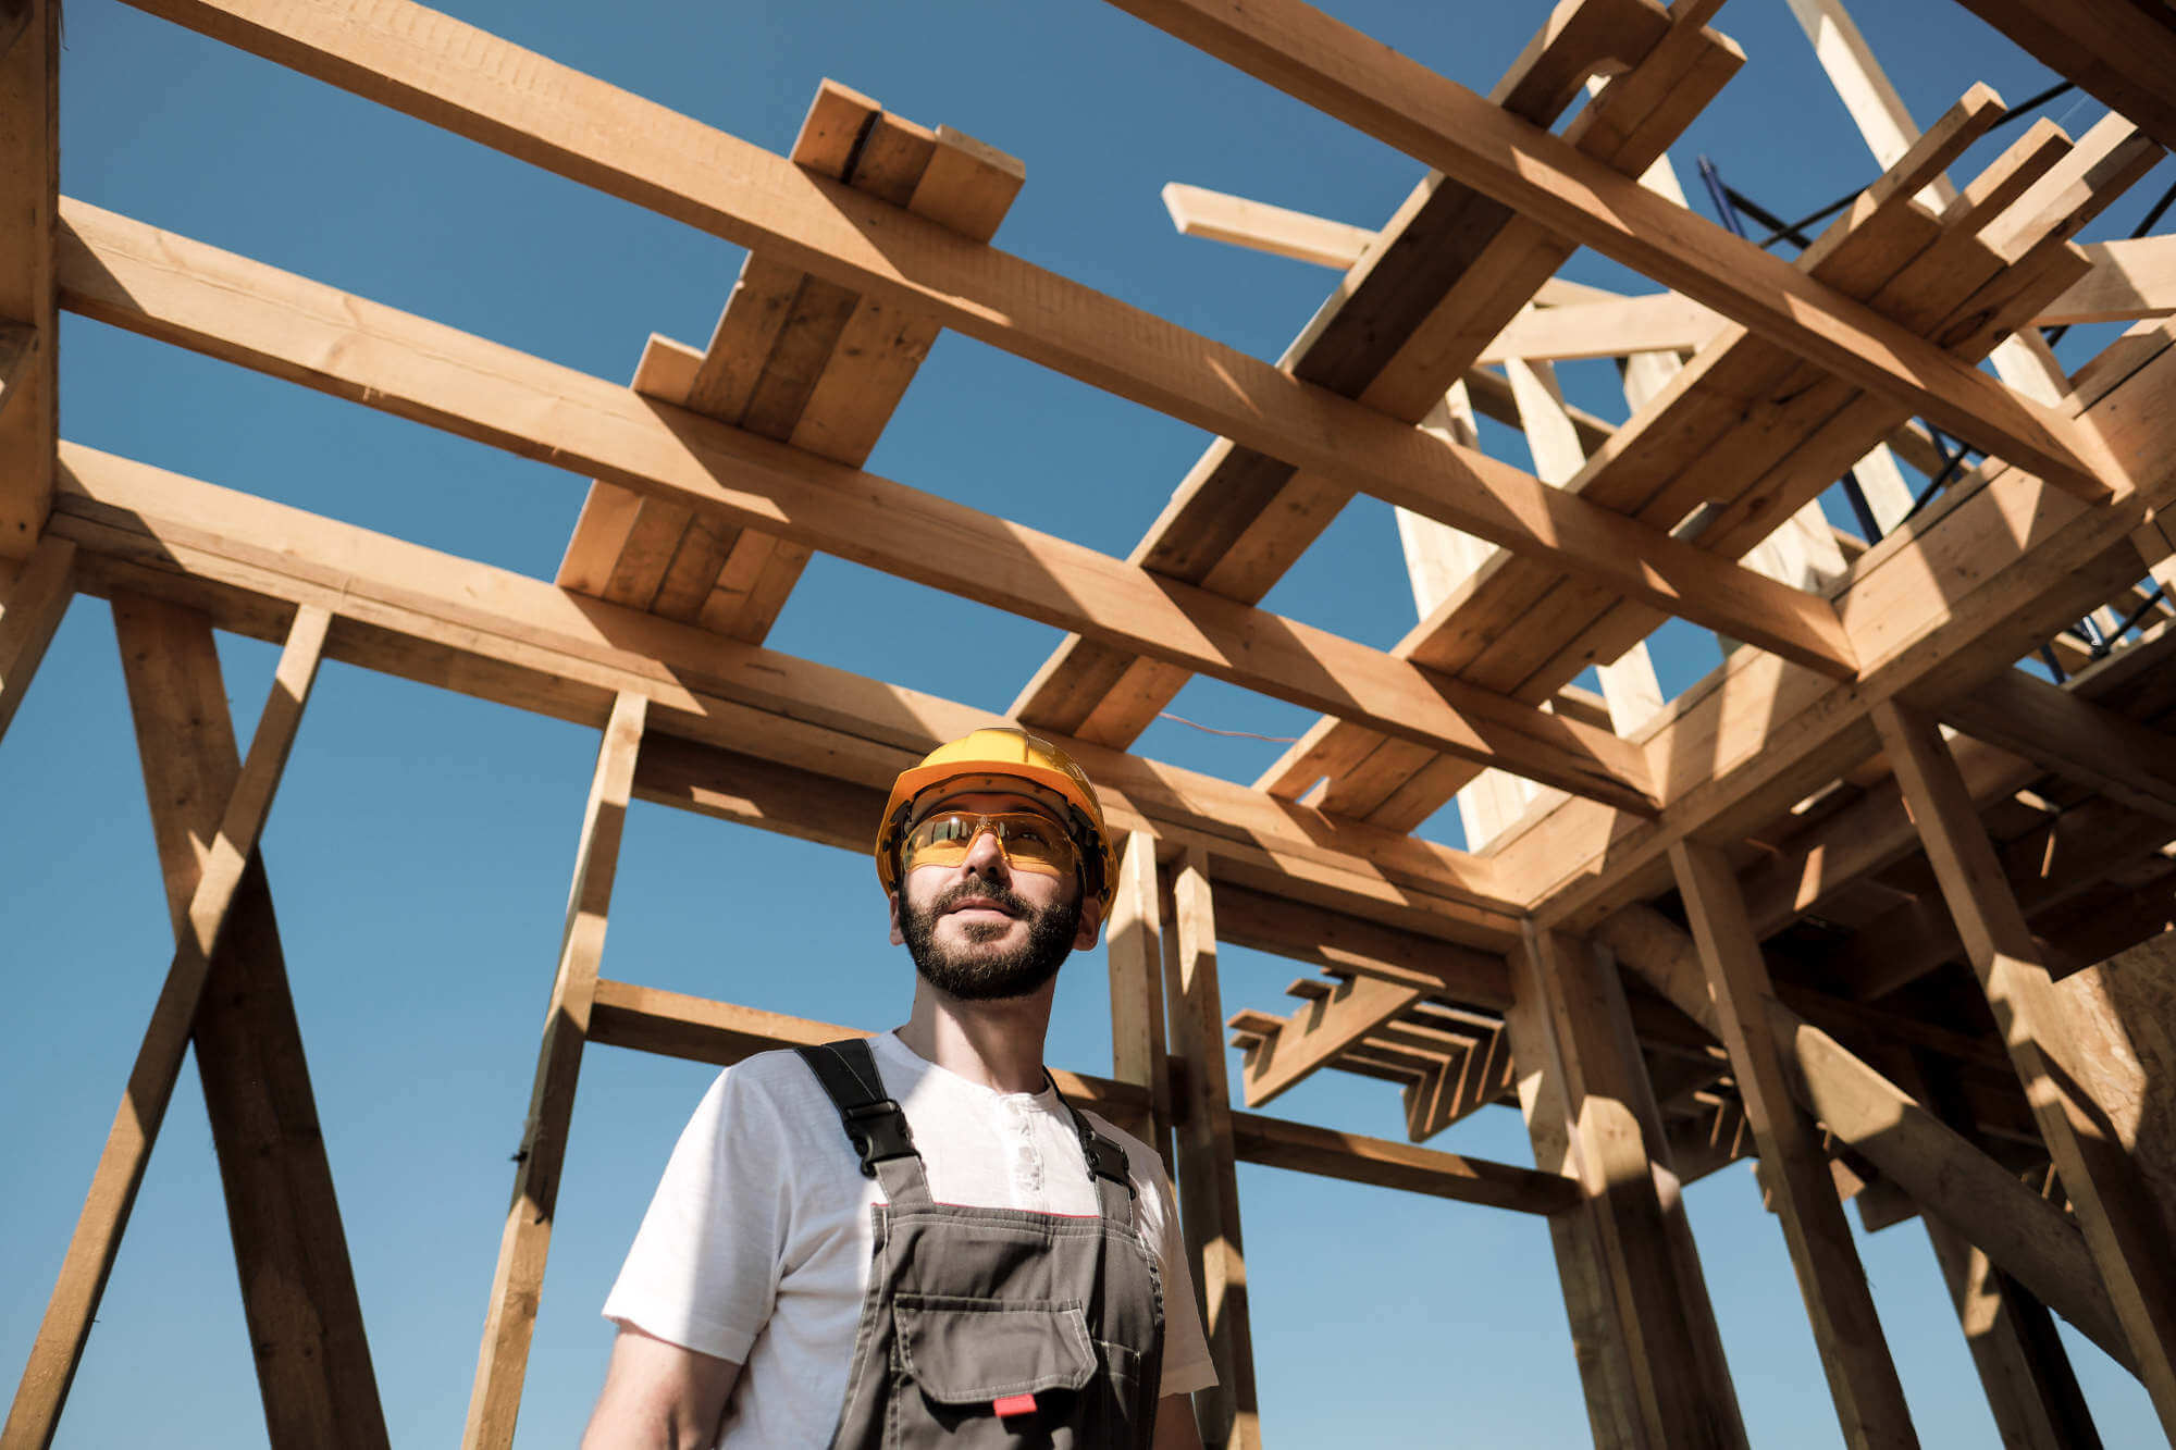
<path fill-rule="evenodd" d="M 914 1008 L 712 1084 L 605 1300 L 585 1450 L 1199 1450 L 1171 1184 L 1042 1067 L 1116 875 L 1095 788 L 977 729 L 899 777 L 875 853 Z"/>

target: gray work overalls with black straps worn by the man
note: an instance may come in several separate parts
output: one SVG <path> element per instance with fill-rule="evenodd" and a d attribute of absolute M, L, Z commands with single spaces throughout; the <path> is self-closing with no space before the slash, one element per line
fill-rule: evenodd
<path fill-rule="evenodd" d="M 1147 1450 L 1164 1287 L 1134 1232 L 1125 1150 L 1060 1097 L 1097 1217 L 938 1204 L 868 1043 L 799 1052 L 888 1200 L 870 1208 L 875 1265 L 831 1446 Z"/>

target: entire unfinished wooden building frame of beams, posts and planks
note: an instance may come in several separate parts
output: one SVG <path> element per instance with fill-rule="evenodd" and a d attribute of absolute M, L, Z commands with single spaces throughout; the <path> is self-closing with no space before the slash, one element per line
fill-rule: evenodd
<path fill-rule="evenodd" d="M 1847 1443 L 1917 1439 L 1843 1195 L 1924 1217 L 2006 1443 L 2098 1443 L 2050 1313 L 2176 1435 L 2176 237 L 2074 242 L 2176 146 L 2159 0 L 1965 0 L 2115 115 L 1958 181 L 1993 91 L 1921 133 L 1841 4 L 1791 0 L 1882 168 L 1795 261 L 1665 161 L 1743 59 L 1717 0 L 1567 0 L 1491 96 L 1299 0 L 1116 0 L 1436 168 L 1380 229 L 1166 189 L 1190 235 L 1343 272 L 1277 361 L 992 246 L 1021 163 L 836 83 L 779 157 L 409 0 L 135 2 L 749 259 L 622 388 L 159 231 L 61 194 L 59 7 L 15 7 L 0 732 L 67 601 L 111 599 L 176 947 L 7 1450 L 52 1439 L 189 1041 L 272 1441 L 387 1439 L 255 853 L 324 658 L 601 729 L 463 1433 L 511 1443 L 583 1054 L 862 1030 L 603 975 L 629 801 L 864 849 L 899 769 L 999 718 L 768 649 L 814 551 L 1066 631 L 1003 718 L 1075 751 L 1125 864 L 1112 1067 L 1060 1078 L 1173 1165 L 1208 1443 L 1262 1439 L 1262 1163 L 1543 1215 L 1595 1441 L 1743 1446 L 1680 1204 L 1741 1156 Z M 1660 290 L 1560 279 L 1580 246 Z M 61 440 L 59 309 L 592 479 L 557 579 Z M 2065 374 L 2039 327 L 2091 320 L 2137 327 Z M 940 329 L 1216 442 L 1123 560 L 868 472 Z M 1591 357 L 1623 425 L 1556 385 Z M 1913 507 L 1902 466 L 1956 477 Z M 1845 472 L 1874 538 L 1821 512 Z M 1262 607 L 1358 494 L 1412 564 L 1388 651 Z M 1743 647 L 1665 701 L 1669 618 Z M 285 640 L 244 760 L 213 629 Z M 1195 675 L 1321 718 L 1253 784 L 1134 753 Z M 1475 849 L 1412 834 L 1451 801 Z M 1219 943 L 1319 975 L 1234 1010 Z M 1397 1084 L 1410 1141 L 1256 1113 L 1323 1069 Z M 1493 1104 L 1534 1167 L 1423 1145 Z"/>

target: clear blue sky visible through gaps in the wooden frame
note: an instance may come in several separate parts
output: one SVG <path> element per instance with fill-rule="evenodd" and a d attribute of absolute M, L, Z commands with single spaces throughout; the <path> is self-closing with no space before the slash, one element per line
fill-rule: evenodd
<path fill-rule="evenodd" d="M 1162 183 L 1377 224 L 1421 174 L 1099 4 L 455 9 L 775 150 L 823 76 L 984 137 L 1027 163 L 1003 246 L 1264 357 L 1332 277 L 1173 235 Z M 1475 89 L 1547 11 L 1536 0 L 1332 9 Z M 1971 81 L 2011 100 L 2048 83 L 1943 0 L 1860 11 L 1921 122 Z M 1784 213 L 1863 185 L 1871 163 L 1784 4 L 1736 0 L 1717 24 L 1750 63 L 1673 150 L 1686 181 L 1704 150 Z M 2065 98 L 2054 113 L 2080 133 L 2100 107 Z M 2156 172 L 2100 231 L 2128 231 L 2165 185 Z M 722 242 L 111 0 L 67 11 L 63 187 L 611 379 L 627 377 L 648 331 L 701 344 L 740 261 Z M 1641 287 L 1591 255 L 1573 274 Z M 67 438 L 194 477 L 540 577 L 581 505 L 583 479 L 98 324 L 65 320 L 61 348 Z M 1567 379 L 1578 401 L 1621 416 L 1606 370 Z M 1125 553 L 1203 442 L 947 335 L 870 466 Z M 1493 429 L 1488 442 L 1525 462 L 1514 435 Z M 1412 603 L 1388 509 L 1347 509 L 1271 607 L 1377 647 L 1397 640 Z M 1055 638 L 818 560 L 775 644 L 1003 710 Z M 272 658 L 224 640 L 244 734 Z M 1660 671 L 1678 690 L 1713 662 L 1713 642 L 1680 629 Z M 1306 725 L 1277 701 L 1203 684 L 1175 710 L 1273 736 Z M 1253 779 L 1279 747 L 1162 723 L 1142 749 Z M 265 860 L 396 1446 L 448 1443 L 461 1426 L 592 758 L 588 729 L 335 664 L 272 816 Z M 78 601 L 54 640 L 0 749 L 0 801 L 13 988 L 0 1091 L 15 1104 L 0 1128 L 11 1165 L 0 1365 L 13 1383 L 172 947 L 100 601 Z M 1430 832 L 1458 840 L 1449 819 Z M 1303 971 L 1225 951 L 1225 1006 L 1282 1012 L 1284 982 Z M 627 827 L 605 973 L 870 1028 L 897 1021 L 910 991 L 866 858 L 646 806 Z M 1051 1060 L 1108 1065 L 1101 956 L 1066 971 Z M 588 1413 L 609 1341 L 596 1306 L 707 1078 L 616 1049 L 583 1067 L 524 1446 L 568 1443 Z M 1380 1082 L 1330 1073 L 1277 1110 L 1401 1136 L 1397 1095 Z M 1508 1110 L 1436 1145 L 1530 1163 Z M 1240 1193 L 1271 1443 L 1584 1443 L 1541 1221 L 1251 1167 Z M 1837 1446 L 1782 1237 L 1750 1169 L 1717 1173 L 1689 1202 L 1754 1443 Z M 1921 1230 L 1887 1230 L 1860 1250 L 1921 1439 L 1993 1443 Z M 2104 1439 L 2150 1443 L 2137 1385 L 2069 1343 Z M 191 1069 L 59 1443 L 261 1437 Z"/>

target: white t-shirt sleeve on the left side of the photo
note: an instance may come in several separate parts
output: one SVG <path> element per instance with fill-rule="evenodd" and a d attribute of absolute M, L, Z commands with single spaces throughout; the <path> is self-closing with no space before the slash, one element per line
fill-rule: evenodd
<path fill-rule="evenodd" d="M 672 1150 L 605 1298 L 607 1319 L 746 1363 L 777 1300 L 790 1230 L 777 1136 L 759 1084 L 722 1071 Z"/>

